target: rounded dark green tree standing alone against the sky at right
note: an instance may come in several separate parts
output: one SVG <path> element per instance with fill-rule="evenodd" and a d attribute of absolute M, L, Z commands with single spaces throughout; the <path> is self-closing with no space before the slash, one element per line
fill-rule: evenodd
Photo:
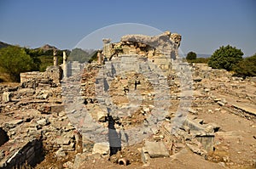
<path fill-rule="evenodd" d="M 218 48 L 209 59 L 208 65 L 213 69 L 234 70 L 236 64 L 242 60 L 241 49 L 230 45 Z"/>

